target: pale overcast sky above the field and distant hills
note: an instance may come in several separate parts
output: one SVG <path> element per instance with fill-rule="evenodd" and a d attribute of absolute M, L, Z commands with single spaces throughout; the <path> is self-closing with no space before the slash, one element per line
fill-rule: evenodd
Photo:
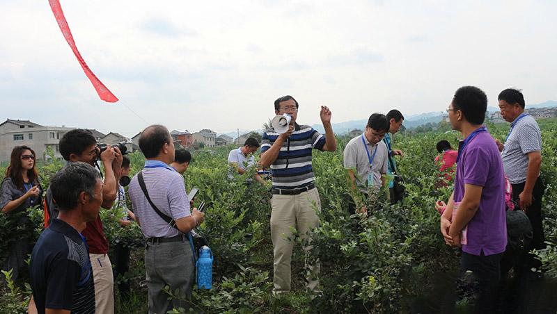
<path fill-rule="evenodd" d="M 47 0 L 0 0 L 0 118 L 128 137 L 148 124 L 260 129 L 292 94 L 298 121 L 447 108 L 461 85 L 555 100 L 557 1 L 61 0 L 101 101 Z M 134 114 L 135 113 L 135 114 Z"/>

